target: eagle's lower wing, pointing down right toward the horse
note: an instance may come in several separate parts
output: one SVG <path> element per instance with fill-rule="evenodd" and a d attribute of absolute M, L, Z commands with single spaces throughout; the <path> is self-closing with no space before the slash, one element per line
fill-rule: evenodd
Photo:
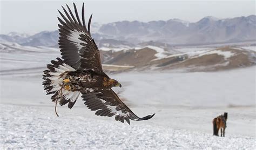
<path fill-rule="evenodd" d="M 127 107 L 117 96 L 114 91 L 109 89 L 96 90 L 93 93 L 82 92 L 84 104 L 92 111 L 96 111 L 96 115 L 112 117 L 116 115 L 116 120 L 130 124 L 131 120 L 141 121 L 148 120 L 154 116 L 147 115 L 139 118 L 134 114 L 129 107 Z"/>

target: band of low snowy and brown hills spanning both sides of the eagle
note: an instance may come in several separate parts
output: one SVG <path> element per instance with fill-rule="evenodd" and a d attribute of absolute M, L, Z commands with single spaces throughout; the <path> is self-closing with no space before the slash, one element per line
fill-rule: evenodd
<path fill-rule="evenodd" d="M 148 45 L 130 50 L 100 50 L 100 58 L 107 72 L 219 71 L 255 65 L 256 50 L 250 49 L 225 46 L 167 50 Z M 51 59 L 61 57 L 56 48 L 16 43 L 0 43 L 0 54 L 0 74 L 42 72 Z"/>

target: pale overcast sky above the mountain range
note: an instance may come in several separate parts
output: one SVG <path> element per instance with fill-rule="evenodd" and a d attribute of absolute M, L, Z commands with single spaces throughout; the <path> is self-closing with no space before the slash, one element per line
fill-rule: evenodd
<path fill-rule="evenodd" d="M 205 16 L 255 15 L 255 1 L 0 1 L 1 34 L 57 30 L 57 9 L 62 11 L 61 5 L 72 6 L 72 2 L 77 4 L 79 11 L 85 2 L 86 20 L 93 13 L 92 22 L 98 23 L 167 21 L 172 18 L 197 22 Z"/>

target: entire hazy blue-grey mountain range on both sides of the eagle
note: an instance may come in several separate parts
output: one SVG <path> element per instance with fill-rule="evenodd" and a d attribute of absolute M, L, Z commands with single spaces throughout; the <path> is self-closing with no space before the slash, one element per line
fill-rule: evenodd
<path fill-rule="evenodd" d="M 256 40 L 256 16 L 218 19 L 205 17 L 198 22 L 170 19 L 169 21 L 121 21 L 92 24 L 92 37 L 100 47 L 134 46 L 157 42 L 177 45 L 234 43 Z M 57 46 L 58 31 L 43 31 L 35 35 L 10 33 L 0 35 L 1 42 L 14 42 L 24 46 Z"/>

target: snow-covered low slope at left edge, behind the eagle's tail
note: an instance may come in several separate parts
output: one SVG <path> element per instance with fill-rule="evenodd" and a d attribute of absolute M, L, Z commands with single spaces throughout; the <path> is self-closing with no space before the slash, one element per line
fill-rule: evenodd
<path fill-rule="evenodd" d="M 51 47 L 0 43 L 0 74 L 11 70 L 42 68 L 51 58 L 57 57 L 61 57 L 59 50 Z"/>

